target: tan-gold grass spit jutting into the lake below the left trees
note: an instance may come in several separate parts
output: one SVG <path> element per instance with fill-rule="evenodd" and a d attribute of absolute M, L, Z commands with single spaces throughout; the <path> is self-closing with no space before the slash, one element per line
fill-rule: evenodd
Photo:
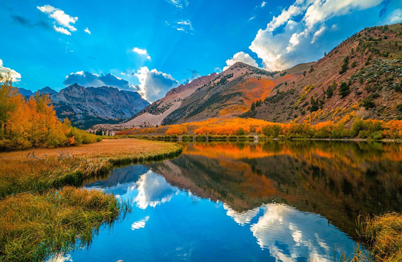
<path fill-rule="evenodd" d="M 57 158 L 62 151 L 68 151 L 70 158 Z M 108 174 L 113 165 L 174 157 L 180 154 L 181 147 L 162 141 L 107 139 L 77 147 L 36 149 L 35 156 L 43 160 L 33 158 L 29 152 L 0 153 L 0 198 L 78 185 L 85 179 Z"/>

